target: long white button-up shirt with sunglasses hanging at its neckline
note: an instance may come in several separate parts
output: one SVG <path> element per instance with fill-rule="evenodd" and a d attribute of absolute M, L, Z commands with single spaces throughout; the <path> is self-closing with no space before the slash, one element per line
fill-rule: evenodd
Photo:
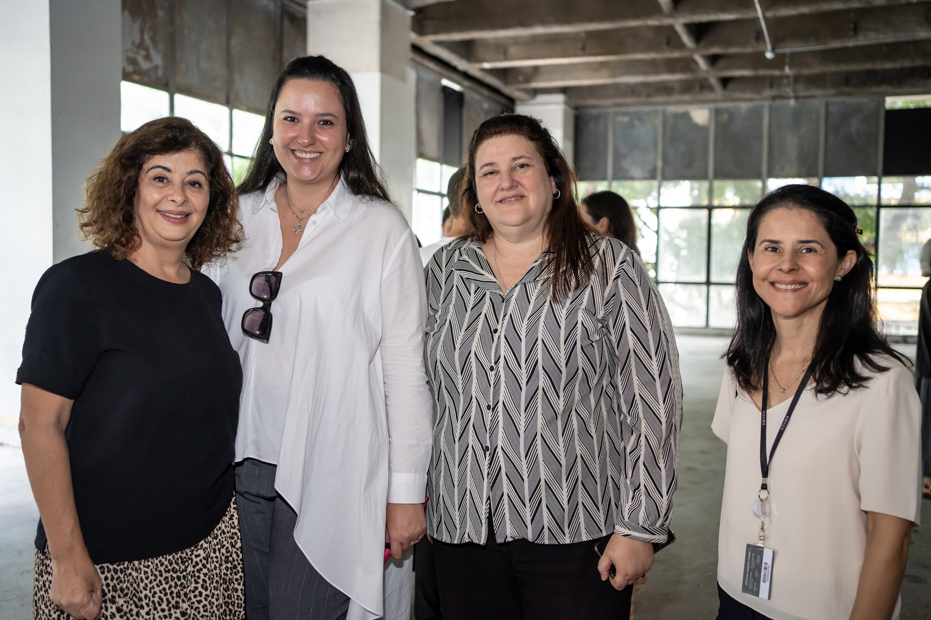
<path fill-rule="evenodd" d="M 236 460 L 277 464 L 298 546 L 360 617 L 378 617 L 385 504 L 422 502 L 430 460 L 424 271 L 398 208 L 341 181 L 280 269 L 268 344 L 244 336 L 243 312 L 261 305 L 252 274 L 281 255 L 282 181 L 240 198 L 246 241 L 205 268 L 243 368 Z"/>

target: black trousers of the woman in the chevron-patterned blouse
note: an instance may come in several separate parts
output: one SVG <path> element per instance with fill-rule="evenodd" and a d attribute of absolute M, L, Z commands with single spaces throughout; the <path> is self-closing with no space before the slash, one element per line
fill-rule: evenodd
<path fill-rule="evenodd" d="M 491 530 L 491 529 L 490 529 Z M 601 581 L 595 542 L 484 545 L 434 541 L 444 620 L 620 620 L 630 616 L 632 587 Z"/>

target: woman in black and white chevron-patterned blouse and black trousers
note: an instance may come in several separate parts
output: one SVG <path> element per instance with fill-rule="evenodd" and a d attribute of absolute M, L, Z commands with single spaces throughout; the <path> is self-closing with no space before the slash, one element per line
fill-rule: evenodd
<path fill-rule="evenodd" d="M 574 181 L 535 119 L 485 121 L 459 186 L 470 231 L 425 270 L 444 618 L 627 617 L 668 539 L 672 327 L 641 259 L 582 221 Z"/>

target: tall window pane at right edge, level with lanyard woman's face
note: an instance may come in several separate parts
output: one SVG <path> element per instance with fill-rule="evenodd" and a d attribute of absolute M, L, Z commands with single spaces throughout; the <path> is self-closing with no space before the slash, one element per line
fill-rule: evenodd
<path fill-rule="evenodd" d="M 918 257 L 931 238 L 931 208 L 886 207 L 879 214 L 879 285 L 924 286 Z"/>

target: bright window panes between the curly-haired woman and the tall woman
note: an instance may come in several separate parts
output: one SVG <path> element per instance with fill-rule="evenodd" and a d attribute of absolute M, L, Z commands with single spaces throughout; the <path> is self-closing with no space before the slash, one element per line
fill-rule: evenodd
<path fill-rule="evenodd" d="M 227 108 L 217 103 L 186 95 L 172 95 L 165 90 L 120 83 L 120 129 L 133 131 L 143 123 L 171 115 L 186 118 L 209 136 L 220 150 L 233 182 L 238 184 L 249 172 L 265 124 L 265 117 Z"/>

